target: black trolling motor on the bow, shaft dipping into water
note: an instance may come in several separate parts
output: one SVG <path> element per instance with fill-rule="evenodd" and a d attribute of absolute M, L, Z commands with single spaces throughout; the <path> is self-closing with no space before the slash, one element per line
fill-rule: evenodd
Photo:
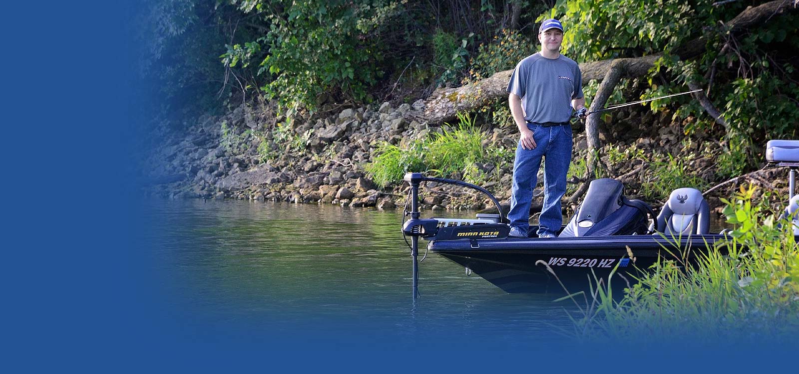
<path fill-rule="evenodd" d="M 416 298 L 419 295 L 419 262 L 416 261 L 416 258 L 419 255 L 419 237 L 422 238 L 431 238 L 434 237 L 435 234 L 438 234 L 439 230 L 439 220 L 435 218 L 419 218 L 419 184 L 422 182 L 437 182 L 437 183 L 448 183 L 448 184 L 455 184 L 456 186 L 472 188 L 474 190 L 483 192 L 483 194 L 487 195 L 494 205 L 497 207 L 497 211 L 499 211 L 499 222 L 506 222 L 507 219 L 505 215 L 503 215 L 502 207 L 499 206 L 499 201 L 491 195 L 491 192 L 487 191 L 483 187 L 475 186 L 471 183 L 466 183 L 463 181 L 455 180 L 455 179 L 443 179 L 443 178 L 432 178 L 422 175 L 422 173 L 412 173 L 408 172 L 405 174 L 403 178 L 407 183 L 411 183 L 411 211 L 409 214 L 411 215 L 411 219 L 405 222 L 402 226 L 403 234 L 406 234 L 411 237 L 411 258 L 413 258 L 413 297 Z"/>

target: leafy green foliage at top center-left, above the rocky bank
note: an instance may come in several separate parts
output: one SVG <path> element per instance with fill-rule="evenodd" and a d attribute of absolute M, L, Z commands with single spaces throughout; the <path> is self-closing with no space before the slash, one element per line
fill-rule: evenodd
<path fill-rule="evenodd" d="M 223 61 L 248 65 L 264 49 L 259 73 L 269 77 L 261 89 L 282 108 L 296 108 L 313 107 L 322 93 L 366 100 L 382 74 L 380 45 L 372 34 L 405 0 L 233 2 L 258 15 L 268 32 L 244 45 L 229 45 Z"/>

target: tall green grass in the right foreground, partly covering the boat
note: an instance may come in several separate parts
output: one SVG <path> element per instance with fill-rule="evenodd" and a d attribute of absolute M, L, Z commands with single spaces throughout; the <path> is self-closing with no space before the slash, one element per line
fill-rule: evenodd
<path fill-rule="evenodd" d="M 718 342 L 757 334 L 795 339 L 799 333 L 799 246 L 787 219 L 753 203 L 753 187 L 725 200 L 729 241 L 697 264 L 662 260 L 614 297 L 594 278 L 574 335 L 659 341 Z M 727 251 L 721 250 L 725 248 Z M 634 255 L 634 254 L 633 254 Z M 623 284 L 623 283 L 622 283 Z M 572 296 L 573 297 L 573 296 Z"/>

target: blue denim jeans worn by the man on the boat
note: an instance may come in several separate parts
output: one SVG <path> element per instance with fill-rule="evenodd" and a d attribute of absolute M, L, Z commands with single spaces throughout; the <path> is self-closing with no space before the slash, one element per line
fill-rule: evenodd
<path fill-rule="evenodd" d="M 513 163 L 513 190 L 511 211 L 507 218 L 511 226 L 519 228 L 522 234 L 530 228 L 530 205 L 533 188 L 538 182 L 541 158 L 544 158 L 544 204 L 539 218 L 538 234 L 556 234 L 563 222 L 560 199 L 566 195 L 566 172 L 571 163 L 571 126 L 543 127 L 527 123 L 533 132 L 535 149 L 516 146 L 516 159 Z"/>

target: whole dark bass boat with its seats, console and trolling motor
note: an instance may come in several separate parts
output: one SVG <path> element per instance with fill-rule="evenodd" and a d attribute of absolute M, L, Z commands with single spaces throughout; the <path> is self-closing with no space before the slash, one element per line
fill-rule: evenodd
<path fill-rule="evenodd" d="M 784 216 L 792 217 L 793 234 L 799 236 L 799 195 L 794 195 L 799 140 L 769 141 L 766 159 L 775 166 L 790 167 L 790 199 Z M 710 232 L 710 208 L 702 192 L 694 188 L 672 191 L 655 215 L 649 204 L 627 199 L 618 180 L 595 179 L 556 238 L 538 238 L 538 226 L 533 225 L 529 237 L 515 238 L 508 236 L 510 227 L 499 202 L 482 187 L 413 172 L 404 180 L 411 185 L 411 211 L 406 211 L 411 219 L 403 223 L 403 234 L 411 237 L 414 297 L 418 295 L 419 238 L 428 241 L 427 250 L 508 293 L 586 289 L 591 279 L 607 278 L 611 272 L 630 282 L 658 259 L 694 262 L 708 250 L 724 251 L 729 242 L 725 230 Z M 478 214 L 474 219 L 420 218 L 419 186 L 427 181 L 480 191 L 491 199 L 499 214 Z"/>

